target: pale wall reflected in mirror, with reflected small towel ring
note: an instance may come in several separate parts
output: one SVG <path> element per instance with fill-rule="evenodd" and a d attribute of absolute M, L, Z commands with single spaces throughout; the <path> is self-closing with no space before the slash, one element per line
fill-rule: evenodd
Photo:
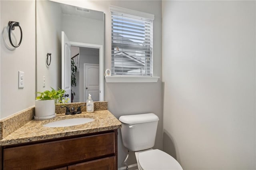
<path fill-rule="evenodd" d="M 62 13 L 58 4 L 39 0 L 37 6 L 37 89 L 61 88 L 61 31 Z M 48 9 L 45 12 L 44 9 Z M 47 53 L 52 53 L 50 66 L 46 65 Z M 45 76 L 45 87 L 43 87 Z"/>

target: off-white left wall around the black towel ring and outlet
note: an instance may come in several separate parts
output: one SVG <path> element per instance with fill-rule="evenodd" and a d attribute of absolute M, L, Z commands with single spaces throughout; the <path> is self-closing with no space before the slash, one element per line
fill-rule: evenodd
<path fill-rule="evenodd" d="M 35 101 L 35 1 L 0 1 L 1 104 L 0 119 L 34 105 Z M 10 50 L 4 43 L 3 29 L 9 21 L 20 22 L 20 47 Z M 20 38 L 19 28 L 13 31 Z M 8 42 L 8 34 L 6 42 Z M 18 89 L 18 71 L 24 71 L 24 89 Z"/>

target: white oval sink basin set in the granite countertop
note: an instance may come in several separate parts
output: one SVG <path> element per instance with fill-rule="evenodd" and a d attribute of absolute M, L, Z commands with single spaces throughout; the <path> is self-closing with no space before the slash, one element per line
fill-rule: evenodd
<path fill-rule="evenodd" d="M 89 123 L 94 121 L 94 119 L 91 118 L 73 118 L 73 119 L 65 119 L 61 121 L 55 121 L 51 123 L 47 123 L 43 125 L 44 127 L 70 127 L 75 125 L 82 125 L 85 123 Z"/>

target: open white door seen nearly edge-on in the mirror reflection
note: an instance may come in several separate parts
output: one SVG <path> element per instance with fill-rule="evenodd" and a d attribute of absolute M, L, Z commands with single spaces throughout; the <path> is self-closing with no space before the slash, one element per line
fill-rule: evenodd
<path fill-rule="evenodd" d="M 71 102 L 71 57 L 70 57 L 71 45 L 66 34 L 61 32 L 61 88 L 66 91 L 65 99 L 69 99 Z"/>

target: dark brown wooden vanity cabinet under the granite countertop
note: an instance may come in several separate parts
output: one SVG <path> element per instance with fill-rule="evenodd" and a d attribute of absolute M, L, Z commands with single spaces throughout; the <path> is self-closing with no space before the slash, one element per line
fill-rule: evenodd
<path fill-rule="evenodd" d="M 1 170 L 117 170 L 117 129 L 1 146 Z"/>

